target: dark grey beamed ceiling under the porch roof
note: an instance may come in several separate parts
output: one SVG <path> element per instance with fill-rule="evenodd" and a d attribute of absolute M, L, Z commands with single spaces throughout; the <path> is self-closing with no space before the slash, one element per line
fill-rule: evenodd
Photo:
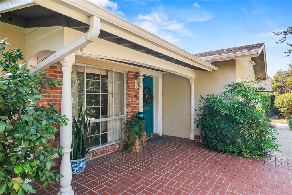
<path fill-rule="evenodd" d="M 69 27 L 80 32 L 87 32 L 89 25 L 68 16 L 62 15 L 58 12 L 55 12 L 51 9 L 42 7 L 40 5 L 33 5 L 25 8 L 20 8 L 17 10 L 8 11 L 6 13 L 1 13 L 1 21 L 9 23 L 12 25 L 24 27 L 24 28 L 34 28 L 34 27 L 51 27 L 51 26 L 63 26 Z M 100 39 L 113 42 L 115 44 L 140 51 L 150 56 L 154 56 L 165 61 L 178 64 L 193 70 L 208 70 L 199 68 L 195 65 L 183 62 L 181 60 L 175 59 L 168 55 L 164 55 L 153 49 L 149 49 L 140 44 L 136 44 L 127 39 L 121 38 L 115 34 L 101 30 L 98 36 Z"/>

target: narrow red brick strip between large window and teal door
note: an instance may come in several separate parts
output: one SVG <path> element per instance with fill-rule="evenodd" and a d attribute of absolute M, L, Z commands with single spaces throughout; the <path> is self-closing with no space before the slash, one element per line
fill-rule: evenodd
<path fill-rule="evenodd" d="M 126 115 L 127 120 L 136 117 L 139 112 L 139 88 L 135 89 L 135 79 L 139 75 L 138 72 L 128 71 L 126 73 Z"/>

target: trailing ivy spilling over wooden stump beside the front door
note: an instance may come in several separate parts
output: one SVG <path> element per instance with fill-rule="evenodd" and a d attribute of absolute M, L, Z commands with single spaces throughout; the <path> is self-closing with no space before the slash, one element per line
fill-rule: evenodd
<path fill-rule="evenodd" d="M 124 123 L 124 125 L 124 133 L 128 140 L 131 141 L 131 143 L 128 142 L 126 150 L 132 152 L 137 139 L 139 139 L 140 143 L 143 145 L 143 133 L 145 132 L 145 125 L 143 120 L 138 120 L 138 118 L 133 117 L 131 117 L 131 120 L 129 120 L 127 123 Z M 140 126 L 140 130 L 133 130 L 133 127 L 137 126 Z"/>

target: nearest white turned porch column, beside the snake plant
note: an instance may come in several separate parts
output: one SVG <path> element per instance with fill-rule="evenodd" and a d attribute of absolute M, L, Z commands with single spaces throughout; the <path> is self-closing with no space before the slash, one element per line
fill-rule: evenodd
<path fill-rule="evenodd" d="M 75 53 L 60 60 L 62 63 L 63 86 L 61 100 L 61 115 L 66 115 L 69 119 L 68 125 L 61 127 L 60 145 L 63 147 L 60 174 L 64 177 L 60 178 L 60 191 L 58 195 L 74 195 L 71 187 L 72 170 L 70 163 L 70 152 L 72 143 L 72 103 L 71 103 L 71 72 L 72 65 L 75 62 Z"/>

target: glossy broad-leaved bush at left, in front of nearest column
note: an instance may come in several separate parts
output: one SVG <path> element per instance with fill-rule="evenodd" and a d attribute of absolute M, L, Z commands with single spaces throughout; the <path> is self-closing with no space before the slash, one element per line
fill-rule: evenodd
<path fill-rule="evenodd" d="M 53 159 L 63 155 L 62 148 L 52 148 L 48 139 L 54 140 L 55 125 L 66 125 L 68 120 L 60 116 L 54 105 L 35 107 L 42 98 L 42 87 L 61 84 L 59 80 L 48 80 L 41 70 L 31 75 L 23 60 L 22 51 L 5 51 L 0 41 L 0 194 L 36 193 L 28 180 L 42 181 L 43 187 L 63 175 L 54 175 L 49 170 L 55 166 Z"/>

